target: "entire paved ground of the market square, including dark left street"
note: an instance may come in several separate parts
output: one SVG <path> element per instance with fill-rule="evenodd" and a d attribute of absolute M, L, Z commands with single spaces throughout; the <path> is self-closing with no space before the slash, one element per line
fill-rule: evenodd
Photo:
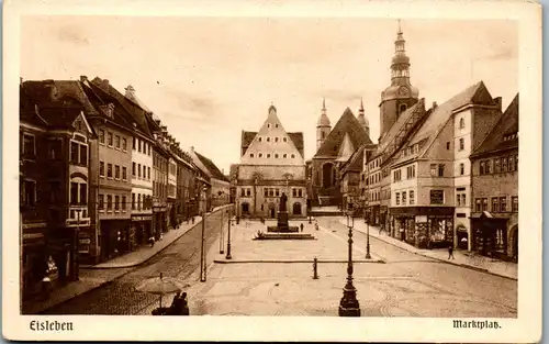
<path fill-rule="evenodd" d="M 265 225 L 242 221 L 232 226 L 229 264 L 213 263 L 213 259 L 224 260 L 219 252 L 220 220 L 213 215 L 206 221 L 210 269 L 205 282 L 198 281 L 201 234 L 198 228 L 145 266 L 47 313 L 150 314 L 158 307 L 158 297 L 136 292 L 134 287 L 161 271 L 191 284 L 187 292 L 193 315 L 337 315 L 347 277 L 345 263 L 318 264 L 320 279 L 313 279 L 310 263 L 233 262 L 265 257 L 346 258 L 348 231 L 338 218 L 318 219 L 320 231 L 304 222 L 305 232 L 313 233 L 317 241 L 251 241 L 254 233 Z M 354 257 L 363 259 L 366 235 L 355 231 L 354 240 Z M 354 264 L 354 284 L 365 317 L 514 318 L 517 314 L 515 280 L 418 256 L 373 237 L 370 244 L 371 253 L 385 264 Z M 170 301 L 171 297 L 167 297 L 166 302 Z"/>

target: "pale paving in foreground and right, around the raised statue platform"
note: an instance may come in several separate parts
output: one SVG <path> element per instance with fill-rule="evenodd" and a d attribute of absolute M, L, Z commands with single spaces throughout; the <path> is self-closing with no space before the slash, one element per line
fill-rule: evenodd
<path fill-rule="evenodd" d="M 339 236 L 325 240 L 346 240 L 347 229 L 336 218 L 320 219 L 320 224 L 321 231 Z M 238 240 L 245 240 L 250 229 L 244 224 L 235 232 L 233 257 L 248 255 L 239 251 L 246 245 Z M 356 232 L 354 237 L 356 245 L 366 245 L 362 233 Z M 271 243 L 283 246 L 288 242 Z M 370 244 L 386 263 L 354 265 L 363 317 L 517 315 L 514 280 L 417 256 L 376 238 Z M 313 279 L 311 264 L 304 263 L 215 264 L 205 284 L 188 290 L 191 314 L 337 315 L 346 267 L 320 264 L 320 279 Z"/>

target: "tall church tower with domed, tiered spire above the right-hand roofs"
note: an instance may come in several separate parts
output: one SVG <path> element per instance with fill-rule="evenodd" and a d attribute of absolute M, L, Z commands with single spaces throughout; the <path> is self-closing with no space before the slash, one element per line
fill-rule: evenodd
<path fill-rule="evenodd" d="M 410 57 L 406 56 L 404 36 L 399 20 L 399 32 L 394 41 L 394 55 L 391 60 L 391 86 L 381 92 L 380 138 L 396 122 L 399 115 L 414 106 L 419 98 L 417 88 L 410 84 Z"/>

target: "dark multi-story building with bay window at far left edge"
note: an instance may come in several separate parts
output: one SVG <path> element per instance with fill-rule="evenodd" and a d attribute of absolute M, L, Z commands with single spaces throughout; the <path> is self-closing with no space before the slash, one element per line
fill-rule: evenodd
<path fill-rule="evenodd" d="M 23 295 L 48 275 L 78 279 L 79 253 L 90 251 L 89 145 L 96 137 L 78 81 L 21 85 Z"/>

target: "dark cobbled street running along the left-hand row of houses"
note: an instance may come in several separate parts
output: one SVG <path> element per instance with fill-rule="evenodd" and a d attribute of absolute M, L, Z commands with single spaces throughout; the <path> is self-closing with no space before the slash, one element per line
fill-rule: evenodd
<path fill-rule="evenodd" d="M 226 220 L 226 217 L 224 218 Z M 226 231 L 226 223 L 224 223 Z M 221 214 L 211 214 L 205 222 L 205 245 L 209 247 L 208 262 L 214 259 L 213 253 L 219 255 Z M 179 279 L 197 279 L 193 276 L 200 266 L 200 241 L 202 229 L 193 228 L 173 242 L 166 249 L 153 257 L 145 265 L 130 269 L 130 273 L 111 282 L 82 293 L 64 303 L 45 310 L 42 314 L 137 314 L 154 304 L 158 307 L 157 296 L 135 291 L 135 286 L 144 279 L 164 276 Z M 113 269 L 105 270 L 112 274 Z M 94 275 L 96 276 L 96 275 Z M 171 297 L 165 298 L 171 302 Z M 150 313 L 149 313 L 150 314 Z"/>

